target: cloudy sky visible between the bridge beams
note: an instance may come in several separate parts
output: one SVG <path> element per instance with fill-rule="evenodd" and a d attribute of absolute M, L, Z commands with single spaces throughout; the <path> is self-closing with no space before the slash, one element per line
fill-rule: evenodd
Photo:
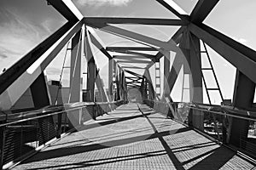
<path fill-rule="evenodd" d="M 190 14 L 197 0 L 174 0 L 174 2 Z M 155 0 L 73 0 L 73 3 L 84 16 L 177 18 Z M 204 22 L 236 41 L 256 49 L 256 25 L 253 24 L 255 8 L 254 0 L 220 0 Z M 66 21 L 45 0 L 1 0 L 0 71 L 13 65 Z M 178 27 L 130 26 L 129 29 L 166 41 L 172 37 L 172 33 Z M 128 43 L 106 33 L 99 32 L 99 34 L 108 45 L 115 45 L 115 42 Z M 231 99 L 236 70 L 212 50 L 210 53 L 224 97 Z M 60 63 L 63 55 L 64 50 L 55 63 Z M 53 64 L 49 65 L 47 73 L 49 77 L 54 78 L 52 75 L 59 74 L 60 70 L 61 65 Z"/>

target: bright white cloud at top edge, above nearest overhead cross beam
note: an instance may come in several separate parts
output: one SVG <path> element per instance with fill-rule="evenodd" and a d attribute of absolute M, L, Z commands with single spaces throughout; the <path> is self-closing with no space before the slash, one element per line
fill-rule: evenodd
<path fill-rule="evenodd" d="M 93 7 L 101 7 L 104 5 L 110 6 L 125 6 L 131 3 L 132 0 L 78 0 L 80 5 L 89 5 Z"/>

